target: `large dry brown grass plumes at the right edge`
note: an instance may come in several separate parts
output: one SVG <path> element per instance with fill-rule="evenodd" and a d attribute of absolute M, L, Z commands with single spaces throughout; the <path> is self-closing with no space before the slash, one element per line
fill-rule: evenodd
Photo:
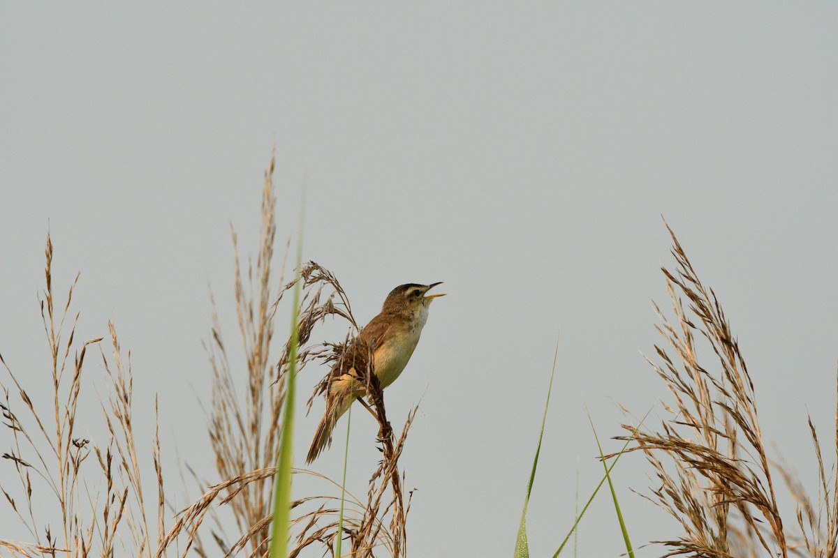
<path fill-rule="evenodd" d="M 675 322 L 655 305 L 661 320 L 656 329 L 669 348 L 655 346 L 660 363 L 647 360 L 665 381 L 674 404 L 665 405 L 672 417 L 659 430 L 634 435 L 638 446 L 633 449 L 644 452 L 660 484 L 649 499 L 675 517 L 684 532 L 675 540 L 656 542 L 669 547 L 666 556 L 786 557 L 806 555 L 805 550 L 834 557 L 835 486 L 830 489 L 821 475 L 824 490 L 818 504 L 798 491 L 803 535 L 790 534 L 775 495 L 778 471 L 763 443 L 753 381 L 738 341 L 716 294 L 701 283 L 675 233 L 666 227 L 677 266 L 662 271 Z M 814 428 L 812 436 L 823 471 Z M 789 477 L 783 468 L 779 474 Z M 815 509 L 824 513 L 807 511 Z"/>

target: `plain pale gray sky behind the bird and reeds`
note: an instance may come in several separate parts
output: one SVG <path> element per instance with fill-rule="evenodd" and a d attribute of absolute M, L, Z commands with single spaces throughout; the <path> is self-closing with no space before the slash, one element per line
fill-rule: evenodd
<path fill-rule="evenodd" d="M 44 385 L 49 228 L 59 292 L 82 272 L 77 335 L 115 321 L 135 413 L 151 417 L 158 393 L 168 464 L 177 444 L 211 475 L 192 393 L 209 397 L 207 284 L 235 339 L 228 222 L 253 251 L 276 142 L 279 240 L 307 181 L 304 257 L 339 276 L 360 320 L 396 284 L 449 293 L 387 391 L 394 424 L 422 397 L 402 462 L 411 555 L 511 554 L 561 325 L 529 515 L 533 555 L 556 549 L 577 456 L 583 493 L 601 472 L 585 405 L 609 437 L 618 403 L 643 413 L 667 395 L 639 355 L 660 341 L 661 214 L 727 310 L 763 433 L 814 489 L 805 415 L 824 432 L 835 420 L 836 23 L 835 3 L 8 3 L 0 352 Z M 298 422 L 298 460 L 320 408 Z M 349 482 L 364 492 L 375 433 L 355 417 Z M 316 468 L 337 478 L 340 453 Z M 644 461 L 617 471 L 634 543 L 672 535 L 629 492 L 649 484 Z M 23 538 L 9 514 L 0 537 Z M 580 555 L 623 550 L 600 499 Z"/>

